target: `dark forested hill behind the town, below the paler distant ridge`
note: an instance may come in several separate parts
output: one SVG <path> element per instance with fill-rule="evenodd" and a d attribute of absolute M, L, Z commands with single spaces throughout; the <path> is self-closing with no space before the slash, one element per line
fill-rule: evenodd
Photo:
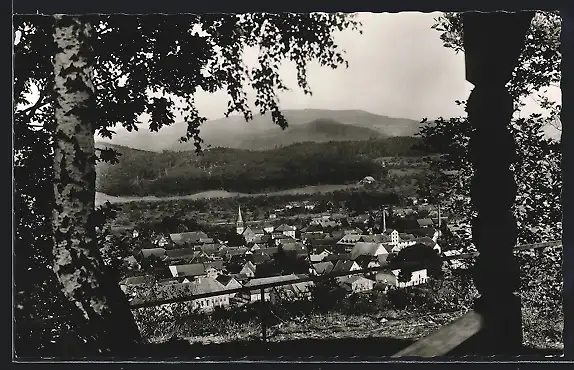
<path fill-rule="evenodd" d="M 344 184 L 384 169 L 373 159 L 420 156 L 420 139 L 299 143 L 268 151 L 212 148 L 161 153 L 98 143 L 121 153 L 118 164 L 99 163 L 97 191 L 108 195 L 167 196 L 207 190 L 255 193 L 300 186 Z"/>

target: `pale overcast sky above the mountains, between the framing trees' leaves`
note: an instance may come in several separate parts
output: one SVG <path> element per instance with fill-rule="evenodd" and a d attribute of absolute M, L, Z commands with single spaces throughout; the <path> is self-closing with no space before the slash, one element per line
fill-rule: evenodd
<path fill-rule="evenodd" d="M 462 114 L 454 101 L 466 99 L 472 85 L 464 78 L 464 56 L 444 48 L 431 29 L 438 15 L 361 13 L 362 35 L 345 31 L 336 36 L 349 68 L 309 66 L 312 96 L 297 87 L 295 67 L 282 66 L 292 90 L 280 95 L 281 108 L 362 109 L 416 120 Z M 245 55 L 248 61 L 255 57 L 252 50 Z M 210 119 L 221 117 L 227 107 L 223 92 L 198 94 L 196 100 Z"/>

